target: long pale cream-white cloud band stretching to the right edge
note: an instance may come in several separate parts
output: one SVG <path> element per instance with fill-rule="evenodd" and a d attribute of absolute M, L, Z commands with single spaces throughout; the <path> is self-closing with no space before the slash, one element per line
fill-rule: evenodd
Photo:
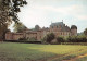
<path fill-rule="evenodd" d="M 86 11 L 84 10 L 83 5 L 73 4 L 69 7 L 59 7 L 59 8 L 54 8 L 52 5 L 34 5 L 33 8 L 36 10 L 45 11 L 46 13 L 50 11 L 50 12 L 61 13 L 60 15 L 65 15 L 65 16 L 72 15 L 76 19 L 87 20 L 86 17 L 87 15 L 84 15 Z"/>

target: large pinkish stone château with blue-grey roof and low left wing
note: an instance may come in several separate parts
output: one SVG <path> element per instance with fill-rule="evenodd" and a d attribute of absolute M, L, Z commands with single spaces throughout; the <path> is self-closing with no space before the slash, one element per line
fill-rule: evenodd
<path fill-rule="evenodd" d="M 36 26 L 38 27 L 38 26 Z M 5 34 L 5 40 L 18 40 L 20 38 L 36 38 L 40 41 L 48 33 L 54 33 L 55 37 L 58 36 L 76 36 L 77 27 L 72 25 L 71 28 L 65 25 L 63 22 L 51 23 L 50 27 L 38 27 L 38 29 L 24 29 L 22 33 L 11 33 Z"/>

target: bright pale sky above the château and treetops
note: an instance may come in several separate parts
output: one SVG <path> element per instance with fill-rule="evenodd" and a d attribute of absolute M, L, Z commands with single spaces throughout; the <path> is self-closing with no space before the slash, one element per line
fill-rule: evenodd
<path fill-rule="evenodd" d="M 87 27 L 87 0 L 27 0 L 21 8 L 20 21 L 28 28 L 39 25 L 49 27 L 51 23 L 62 22 L 77 26 L 80 33 Z"/>

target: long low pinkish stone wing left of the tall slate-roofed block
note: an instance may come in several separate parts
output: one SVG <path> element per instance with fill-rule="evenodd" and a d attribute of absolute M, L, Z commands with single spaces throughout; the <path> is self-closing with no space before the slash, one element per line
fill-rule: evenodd
<path fill-rule="evenodd" d="M 5 34 L 5 40 L 18 40 L 20 38 L 36 38 L 37 40 L 40 40 L 42 38 L 41 32 L 36 33 L 7 33 Z"/>

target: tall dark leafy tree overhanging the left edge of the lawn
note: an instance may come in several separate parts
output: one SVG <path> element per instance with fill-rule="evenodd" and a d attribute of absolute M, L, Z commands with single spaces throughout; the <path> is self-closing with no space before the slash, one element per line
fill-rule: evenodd
<path fill-rule="evenodd" d="M 0 38 L 3 38 L 9 25 L 18 22 L 20 7 L 27 4 L 25 0 L 0 0 Z"/>

